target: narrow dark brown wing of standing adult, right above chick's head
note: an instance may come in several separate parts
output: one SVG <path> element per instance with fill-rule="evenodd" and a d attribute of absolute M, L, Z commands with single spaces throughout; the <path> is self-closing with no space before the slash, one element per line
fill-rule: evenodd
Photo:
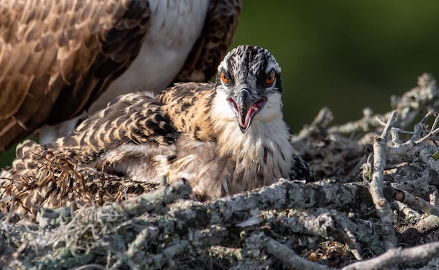
<path fill-rule="evenodd" d="M 175 81 L 208 81 L 231 45 L 241 0 L 211 0 L 200 37 Z"/>

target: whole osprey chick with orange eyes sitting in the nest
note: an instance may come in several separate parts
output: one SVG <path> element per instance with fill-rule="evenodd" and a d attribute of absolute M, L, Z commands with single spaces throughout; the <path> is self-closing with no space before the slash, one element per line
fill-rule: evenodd
<path fill-rule="evenodd" d="M 290 144 L 281 95 L 273 55 L 238 46 L 220 63 L 216 83 L 179 83 L 158 96 L 121 95 L 53 144 L 19 145 L 13 168 L 1 173 L 0 198 L 16 198 L 25 209 L 98 201 L 98 192 L 76 194 L 99 185 L 109 192 L 114 180 L 90 179 L 90 171 L 135 184 L 183 177 L 201 198 L 281 177 L 312 181 L 313 171 Z M 71 168 L 60 169 L 66 163 Z"/>

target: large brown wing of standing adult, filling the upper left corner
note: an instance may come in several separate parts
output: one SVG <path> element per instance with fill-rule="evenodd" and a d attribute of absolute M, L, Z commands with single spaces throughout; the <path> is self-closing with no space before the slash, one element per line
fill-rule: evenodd
<path fill-rule="evenodd" d="M 139 53 L 141 0 L 0 0 L 0 151 L 79 114 Z"/>

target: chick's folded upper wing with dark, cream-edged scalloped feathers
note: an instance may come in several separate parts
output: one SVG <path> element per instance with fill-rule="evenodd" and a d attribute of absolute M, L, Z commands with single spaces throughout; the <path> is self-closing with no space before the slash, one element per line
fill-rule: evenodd
<path fill-rule="evenodd" d="M 106 109 L 93 114 L 53 146 L 70 161 L 90 163 L 121 144 L 175 142 L 177 132 L 156 97 L 130 93 L 117 97 Z"/>

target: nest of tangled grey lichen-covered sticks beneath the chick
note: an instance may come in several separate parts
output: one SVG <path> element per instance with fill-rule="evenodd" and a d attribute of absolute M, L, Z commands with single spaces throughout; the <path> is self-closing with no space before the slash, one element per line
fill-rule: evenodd
<path fill-rule="evenodd" d="M 33 207 L 29 219 L 1 202 L 0 267 L 437 269 L 439 118 L 432 108 L 439 91 L 428 74 L 418 85 L 392 97 L 398 113 L 365 109 L 358 121 L 330 126 L 323 108 L 292 137 L 318 175 L 312 184 L 280 180 L 201 203 L 189 198 L 184 180 L 129 187 L 114 175 L 41 156 L 52 174 L 39 181 L 67 183 L 65 194 L 93 203 L 54 210 L 13 202 Z M 72 184 L 82 197 L 72 195 Z"/>

